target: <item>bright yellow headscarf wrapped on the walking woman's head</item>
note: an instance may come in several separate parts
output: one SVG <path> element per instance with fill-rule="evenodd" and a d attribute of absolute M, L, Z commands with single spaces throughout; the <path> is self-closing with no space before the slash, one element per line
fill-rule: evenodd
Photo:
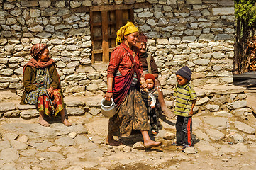
<path fill-rule="evenodd" d="M 138 28 L 130 21 L 126 23 L 126 25 L 122 26 L 117 32 L 116 32 L 116 45 L 118 45 L 118 42 L 123 42 L 123 36 L 128 35 L 130 33 L 139 32 Z"/>

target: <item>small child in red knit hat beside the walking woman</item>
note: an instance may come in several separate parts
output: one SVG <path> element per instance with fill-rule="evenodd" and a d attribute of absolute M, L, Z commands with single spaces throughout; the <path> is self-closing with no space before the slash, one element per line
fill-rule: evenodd
<path fill-rule="evenodd" d="M 158 102 L 158 92 L 157 89 L 155 89 L 155 77 L 153 74 L 145 74 L 145 81 L 148 90 L 150 93 L 155 96 L 155 99 L 157 100 L 157 103 L 155 103 L 155 106 L 150 107 L 150 104 L 152 103 L 152 99 L 145 91 L 141 91 L 141 94 L 143 95 L 143 101 L 145 102 L 145 105 L 147 106 L 147 112 L 148 112 L 148 119 L 150 120 L 150 126 L 151 126 L 151 132 L 152 135 L 157 135 L 158 133 L 158 123 L 157 118 L 159 115 L 159 112 L 161 111 L 160 103 Z"/>

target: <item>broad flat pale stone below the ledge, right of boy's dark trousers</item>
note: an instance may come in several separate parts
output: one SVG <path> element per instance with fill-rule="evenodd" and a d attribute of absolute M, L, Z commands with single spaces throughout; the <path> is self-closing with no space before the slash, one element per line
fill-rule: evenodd
<path fill-rule="evenodd" d="M 226 128 L 229 128 L 229 122 L 228 118 L 221 118 L 221 117 L 214 117 L 214 118 L 209 118 L 206 117 L 204 118 L 204 123 L 211 125 L 213 128 L 216 128 L 218 130 L 223 130 Z"/>

